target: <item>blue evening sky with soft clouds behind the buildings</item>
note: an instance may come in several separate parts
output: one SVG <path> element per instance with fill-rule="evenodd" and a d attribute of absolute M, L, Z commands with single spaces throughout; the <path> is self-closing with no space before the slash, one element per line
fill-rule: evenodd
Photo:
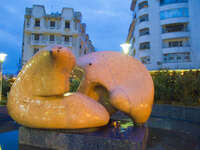
<path fill-rule="evenodd" d="M 2 0 L 0 5 L 0 52 L 8 54 L 4 73 L 16 73 L 21 57 L 25 7 L 44 5 L 46 12 L 74 8 L 83 16 L 87 33 L 97 51 L 121 51 L 131 22 L 131 0 Z"/>

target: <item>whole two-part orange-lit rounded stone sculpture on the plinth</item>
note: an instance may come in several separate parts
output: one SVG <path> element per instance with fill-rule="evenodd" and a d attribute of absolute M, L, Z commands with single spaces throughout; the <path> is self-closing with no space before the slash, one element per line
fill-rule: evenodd
<path fill-rule="evenodd" d="M 117 110 L 136 123 L 147 121 L 154 87 L 143 64 L 117 52 L 85 55 L 77 61 L 85 71 L 79 92 L 66 94 L 75 65 L 71 51 L 60 46 L 33 56 L 11 88 L 11 117 L 24 126 L 59 129 L 104 126 Z"/>

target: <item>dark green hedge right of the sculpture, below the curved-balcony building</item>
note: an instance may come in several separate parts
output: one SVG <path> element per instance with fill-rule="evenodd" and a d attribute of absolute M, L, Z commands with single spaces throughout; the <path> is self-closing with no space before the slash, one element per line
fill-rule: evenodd
<path fill-rule="evenodd" d="M 200 104 L 200 72 L 158 71 L 152 73 L 152 78 L 155 102 Z"/>

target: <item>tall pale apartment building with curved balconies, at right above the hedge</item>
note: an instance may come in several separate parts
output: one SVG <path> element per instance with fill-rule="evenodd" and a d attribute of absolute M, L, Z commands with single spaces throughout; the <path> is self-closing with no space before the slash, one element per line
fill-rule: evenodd
<path fill-rule="evenodd" d="M 132 0 L 130 55 L 149 70 L 200 68 L 200 0 Z"/>

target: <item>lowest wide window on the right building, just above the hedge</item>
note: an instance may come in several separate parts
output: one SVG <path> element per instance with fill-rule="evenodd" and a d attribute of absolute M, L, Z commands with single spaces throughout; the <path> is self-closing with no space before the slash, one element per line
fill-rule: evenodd
<path fill-rule="evenodd" d="M 164 54 L 165 63 L 179 63 L 179 62 L 189 62 L 189 61 L 190 61 L 189 52 Z"/>

